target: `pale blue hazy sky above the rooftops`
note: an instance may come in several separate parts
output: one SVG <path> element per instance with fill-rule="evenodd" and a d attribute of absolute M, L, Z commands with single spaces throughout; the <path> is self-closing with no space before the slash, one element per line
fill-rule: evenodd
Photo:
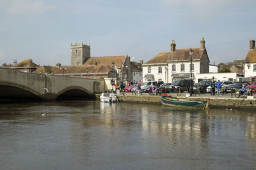
<path fill-rule="evenodd" d="M 33 59 L 70 65 L 70 43 L 91 56 L 147 62 L 160 52 L 198 48 L 210 63 L 244 59 L 256 40 L 255 0 L 0 0 L 0 64 Z"/>

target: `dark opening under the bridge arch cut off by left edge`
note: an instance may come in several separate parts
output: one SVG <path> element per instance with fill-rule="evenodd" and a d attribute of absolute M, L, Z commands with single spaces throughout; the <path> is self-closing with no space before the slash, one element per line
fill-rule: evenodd
<path fill-rule="evenodd" d="M 44 96 L 24 85 L 0 82 L 0 99 L 44 99 Z"/>

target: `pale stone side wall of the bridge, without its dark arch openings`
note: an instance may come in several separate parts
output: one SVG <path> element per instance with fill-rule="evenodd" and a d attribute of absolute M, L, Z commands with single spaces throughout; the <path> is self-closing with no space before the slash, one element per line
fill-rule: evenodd
<path fill-rule="evenodd" d="M 42 99 L 56 99 L 67 90 L 81 90 L 88 96 L 105 89 L 104 80 L 92 80 L 52 74 L 24 73 L 16 69 L 0 68 L 0 86 L 26 90 Z"/>

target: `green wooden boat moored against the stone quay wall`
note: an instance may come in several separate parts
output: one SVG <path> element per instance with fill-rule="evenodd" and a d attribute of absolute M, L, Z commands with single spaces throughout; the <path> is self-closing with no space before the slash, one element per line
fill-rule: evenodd
<path fill-rule="evenodd" d="M 205 109 L 209 107 L 210 99 L 179 99 L 172 96 L 161 96 L 161 102 L 164 106 L 172 106 L 175 108 L 196 108 Z"/>

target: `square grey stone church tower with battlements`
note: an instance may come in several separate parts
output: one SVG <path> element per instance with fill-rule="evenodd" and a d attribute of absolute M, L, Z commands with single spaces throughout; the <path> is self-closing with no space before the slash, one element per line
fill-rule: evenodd
<path fill-rule="evenodd" d="M 81 66 L 86 59 L 91 57 L 91 46 L 80 44 L 72 45 L 71 43 L 71 65 Z"/>

